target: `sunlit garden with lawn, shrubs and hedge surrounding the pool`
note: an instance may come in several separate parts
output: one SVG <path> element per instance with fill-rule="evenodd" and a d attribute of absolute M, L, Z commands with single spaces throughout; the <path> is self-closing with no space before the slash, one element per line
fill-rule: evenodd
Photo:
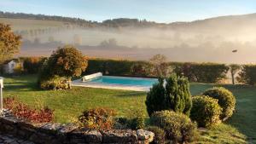
<path fill-rule="evenodd" d="M 2 27 L 8 37 L 0 35 L 0 48 L 8 54 L 1 55 L 1 62 L 20 46 L 20 37 L 9 26 Z M 3 102 L 16 118 L 29 123 L 144 129 L 154 132 L 156 144 L 255 142 L 255 65 L 168 62 L 164 55 L 148 61 L 91 59 L 70 45 L 49 58 L 19 60 L 23 66 L 5 75 Z M 93 72 L 159 82 L 148 92 L 73 87 L 74 78 Z"/>

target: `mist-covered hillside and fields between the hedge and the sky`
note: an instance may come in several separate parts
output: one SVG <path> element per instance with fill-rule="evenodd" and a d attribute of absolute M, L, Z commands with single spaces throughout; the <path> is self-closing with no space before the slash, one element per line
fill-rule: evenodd
<path fill-rule="evenodd" d="M 252 63 L 256 57 L 256 14 L 166 24 L 0 12 L 0 22 L 23 37 L 20 55 L 27 56 L 49 55 L 60 45 L 75 44 L 86 55 L 132 60 L 164 54 L 176 61 Z M 231 53 L 233 49 L 238 52 Z"/>

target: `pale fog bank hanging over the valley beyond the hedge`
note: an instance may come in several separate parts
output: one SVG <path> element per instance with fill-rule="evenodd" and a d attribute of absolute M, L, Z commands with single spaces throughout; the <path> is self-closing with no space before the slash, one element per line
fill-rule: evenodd
<path fill-rule="evenodd" d="M 29 56 L 48 56 L 58 46 L 74 44 L 93 57 L 148 60 L 162 54 L 172 61 L 253 63 L 256 14 L 150 28 L 62 26 L 58 31 L 23 35 L 23 41 L 20 55 Z"/>

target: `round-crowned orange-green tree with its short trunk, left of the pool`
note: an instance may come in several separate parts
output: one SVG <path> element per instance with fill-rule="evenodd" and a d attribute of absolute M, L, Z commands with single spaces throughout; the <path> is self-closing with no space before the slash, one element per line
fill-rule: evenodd
<path fill-rule="evenodd" d="M 73 46 L 57 49 L 48 60 L 52 75 L 67 78 L 68 89 L 71 89 L 71 78 L 79 77 L 85 71 L 87 65 L 85 57 Z"/>

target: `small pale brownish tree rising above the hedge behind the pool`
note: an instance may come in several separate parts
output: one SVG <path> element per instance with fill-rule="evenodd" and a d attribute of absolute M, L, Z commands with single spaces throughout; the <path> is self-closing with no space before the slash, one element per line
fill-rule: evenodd
<path fill-rule="evenodd" d="M 150 60 L 150 64 L 153 66 L 153 74 L 157 77 L 167 77 L 170 72 L 170 66 L 166 62 L 165 55 L 154 55 Z"/>

